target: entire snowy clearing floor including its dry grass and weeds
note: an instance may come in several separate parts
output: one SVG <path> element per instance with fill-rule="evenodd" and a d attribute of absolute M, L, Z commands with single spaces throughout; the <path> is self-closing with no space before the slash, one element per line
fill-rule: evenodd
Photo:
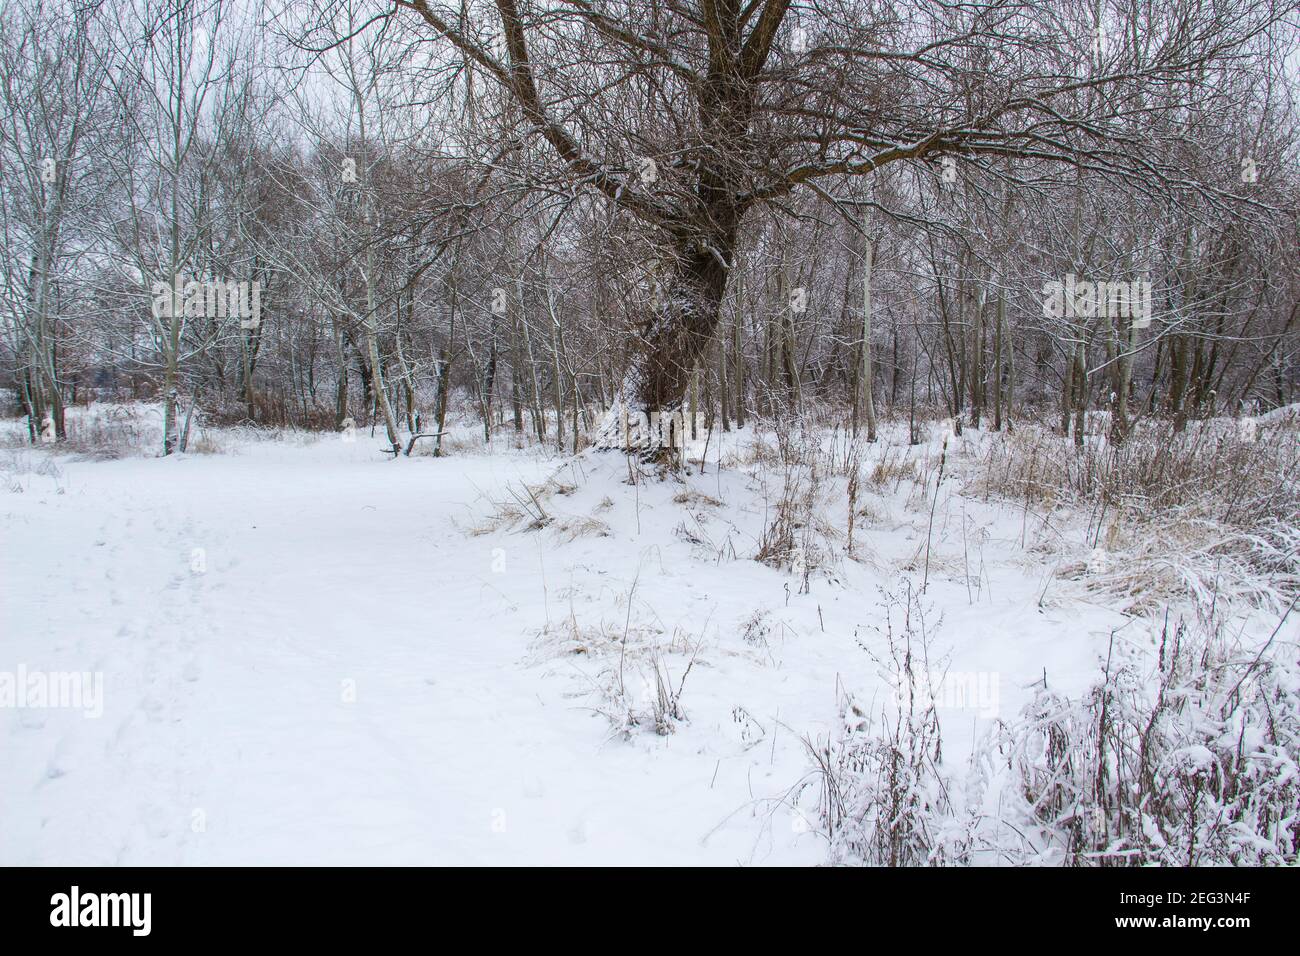
<path fill-rule="evenodd" d="M 6 438 L 0 860 L 1295 860 L 1294 428 L 451 437 Z"/>

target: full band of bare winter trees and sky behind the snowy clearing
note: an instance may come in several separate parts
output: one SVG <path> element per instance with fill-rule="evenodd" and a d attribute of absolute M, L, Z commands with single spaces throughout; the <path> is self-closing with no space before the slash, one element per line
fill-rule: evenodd
<path fill-rule="evenodd" d="M 134 398 L 164 454 L 194 415 L 656 453 L 682 407 L 1122 441 L 1287 405 L 1297 35 L 1274 0 L 13 0 L 0 373 L 34 442 Z"/>

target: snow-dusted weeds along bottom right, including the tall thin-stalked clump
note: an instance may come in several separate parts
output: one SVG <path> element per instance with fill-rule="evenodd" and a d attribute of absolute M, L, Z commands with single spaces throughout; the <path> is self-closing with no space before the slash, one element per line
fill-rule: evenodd
<path fill-rule="evenodd" d="M 1262 646 L 1240 645 L 1214 618 L 1166 623 L 1153 659 L 1113 641 L 1087 692 L 1044 685 L 959 775 L 941 760 L 931 685 L 941 662 L 930 659 L 922 606 L 890 596 L 885 611 L 893 698 L 870 708 L 846 695 L 838 732 L 805 740 L 833 862 L 1300 860 L 1300 665 L 1277 640 L 1287 617 Z"/>

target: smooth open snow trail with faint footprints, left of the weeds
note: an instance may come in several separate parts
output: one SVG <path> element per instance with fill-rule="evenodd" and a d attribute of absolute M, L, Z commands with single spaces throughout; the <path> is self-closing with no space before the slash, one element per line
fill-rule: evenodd
<path fill-rule="evenodd" d="M 0 667 L 101 670 L 105 708 L 0 710 L 0 861 L 749 852 L 741 831 L 699 844 L 736 809 L 710 799 L 715 761 L 662 773 L 520 663 L 537 576 L 494 575 L 491 545 L 452 520 L 552 466 L 370 453 L 69 462 L 62 494 L 10 496 Z M 702 795 L 689 809 L 684 786 Z"/>

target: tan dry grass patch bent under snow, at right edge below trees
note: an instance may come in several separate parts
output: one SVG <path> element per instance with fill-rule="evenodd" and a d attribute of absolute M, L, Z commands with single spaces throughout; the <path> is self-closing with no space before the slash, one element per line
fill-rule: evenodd
<path fill-rule="evenodd" d="M 1088 507 L 1087 546 L 1104 572 L 1063 578 L 1136 613 L 1190 597 L 1274 606 L 1300 591 L 1300 429 L 1279 416 L 1244 436 L 1232 420 L 1136 425 L 1122 445 L 1022 427 L 985 445 L 967 490 L 1027 509 Z"/>

